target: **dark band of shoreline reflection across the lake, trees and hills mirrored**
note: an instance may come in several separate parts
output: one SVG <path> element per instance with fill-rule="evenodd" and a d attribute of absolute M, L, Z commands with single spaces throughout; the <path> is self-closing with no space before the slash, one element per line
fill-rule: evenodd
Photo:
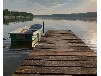
<path fill-rule="evenodd" d="M 68 21 L 76 21 L 76 20 L 81 20 L 81 21 L 87 21 L 87 22 L 97 22 L 97 18 L 68 18 L 68 17 L 34 17 L 34 19 L 51 19 L 51 20 L 68 20 Z M 10 18 L 10 19 L 3 19 L 3 24 L 9 25 L 11 22 L 26 22 L 26 21 L 32 21 L 32 18 Z"/>

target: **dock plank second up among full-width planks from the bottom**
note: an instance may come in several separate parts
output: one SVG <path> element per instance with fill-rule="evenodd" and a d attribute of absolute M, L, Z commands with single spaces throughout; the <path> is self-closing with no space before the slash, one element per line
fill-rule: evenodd
<path fill-rule="evenodd" d="M 47 60 L 25 60 L 22 66 L 40 67 L 97 67 L 97 61 L 47 61 Z"/>

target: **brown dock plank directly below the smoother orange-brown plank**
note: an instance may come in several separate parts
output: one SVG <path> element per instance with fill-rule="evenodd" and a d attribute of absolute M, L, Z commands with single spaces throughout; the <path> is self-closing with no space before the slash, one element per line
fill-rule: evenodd
<path fill-rule="evenodd" d="M 87 57 L 87 56 L 41 56 L 41 55 L 29 55 L 26 60 L 48 60 L 48 61 L 97 61 L 97 57 L 96 56 L 92 56 L 92 57 Z"/>

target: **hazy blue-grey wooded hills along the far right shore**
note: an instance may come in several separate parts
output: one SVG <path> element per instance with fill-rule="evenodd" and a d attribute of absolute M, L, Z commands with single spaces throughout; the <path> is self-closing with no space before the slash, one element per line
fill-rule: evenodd
<path fill-rule="evenodd" d="M 71 14 L 52 14 L 52 15 L 34 15 L 34 17 L 97 18 L 97 12 L 71 13 Z"/>

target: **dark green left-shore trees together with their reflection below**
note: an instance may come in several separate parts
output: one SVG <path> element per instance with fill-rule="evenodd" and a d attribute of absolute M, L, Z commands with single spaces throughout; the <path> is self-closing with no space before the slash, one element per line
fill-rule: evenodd
<path fill-rule="evenodd" d="M 32 21 L 33 14 L 27 12 L 3 10 L 3 24 L 8 25 L 10 22 L 25 22 Z"/>

